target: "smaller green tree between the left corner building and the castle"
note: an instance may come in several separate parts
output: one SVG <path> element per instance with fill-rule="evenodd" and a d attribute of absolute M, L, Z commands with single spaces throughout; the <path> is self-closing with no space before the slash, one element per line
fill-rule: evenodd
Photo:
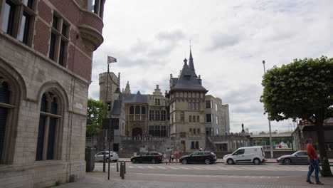
<path fill-rule="evenodd" d="M 106 105 L 103 101 L 88 99 L 86 137 L 95 137 L 102 130 Z"/>

